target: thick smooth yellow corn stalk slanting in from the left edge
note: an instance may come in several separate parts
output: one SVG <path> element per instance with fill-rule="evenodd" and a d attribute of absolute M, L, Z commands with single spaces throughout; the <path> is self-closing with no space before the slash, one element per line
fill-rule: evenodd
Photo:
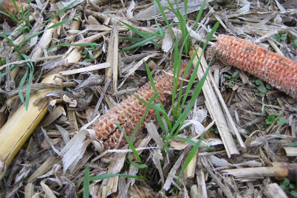
<path fill-rule="evenodd" d="M 66 54 L 68 55 L 64 59 L 67 62 L 78 62 L 81 58 L 81 54 L 77 49 L 70 48 Z M 60 76 L 60 74 L 51 74 L 43 79 L 42 83 L 59 81 L 58 79 L 55 80 L 55 76 Z M 28 111 L 26 111 L 24 105 L 21 105 L 0 129 L 0 179 L 4 176 L 5 169 L 13 157 L 47 113 L 48 102 L 41 102 L 36 106 L 34 101 L 50 91 L 52 89 L 41 90 L 38 94 L 31 95 Z"/>

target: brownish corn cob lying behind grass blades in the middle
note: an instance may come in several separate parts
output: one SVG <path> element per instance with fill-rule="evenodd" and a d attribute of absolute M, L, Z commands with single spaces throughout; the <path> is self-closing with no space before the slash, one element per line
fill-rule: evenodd
<path fill-rule="evenodd" d="M 180 74 L 184 73 L 186 66 L 187 63 L 182 63 Z M 169 72 L 172 73 L 172 69 L 170 69 Z M 189 78 L 189 75 L 187 75 L 186 78 Z M 158 97 L 160 102 L 165 105 L 170 101 L 171 95 L 164 93 L 164 91 L 172 91 L 173 77 L 162 73 L 154 77 L 154 84 L 157 92 L 159 92 Z M 135 96 L 146 101 L 149 101 L 153 95 L 154 91 L 150 82 L 146 83 L 135 93 Z M 146 105 L 139 101 L 135 96 L 131 95 L 127 99 L 124 99 L 91 125 L 91 128 L 97 133 L 97 138 L 103 143 L 104 149 L 114 148 L 119 143 L 121 131 L 117 128 L 115 122 L 121 125 L 128 137 L 131 137 L 136 125 L 144 116 Z M 153 101 L 153 103 L 156 102 L 157 99 Z M 154 110 L 149 109 L 148 115 L 142 123 L 141 128 L 145 126 L 145 122 L 154 118 Z M 124 139 L 125 138 L 120 142 L 120 147 L 126 143 Z"/>

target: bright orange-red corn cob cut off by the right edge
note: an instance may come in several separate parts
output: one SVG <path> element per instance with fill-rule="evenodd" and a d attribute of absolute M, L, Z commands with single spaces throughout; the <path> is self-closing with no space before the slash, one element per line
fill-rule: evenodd
<path fill-rule="evenodd" d="M 297 63 L 255 44 L 219 35 L 207 56 L 215 51 L 220 61 L 236 66 L 297 99 Z"/>

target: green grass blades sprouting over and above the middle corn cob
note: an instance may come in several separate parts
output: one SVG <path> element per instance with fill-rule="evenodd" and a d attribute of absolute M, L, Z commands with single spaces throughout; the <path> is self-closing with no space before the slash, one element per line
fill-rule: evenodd
<path fill-rule="evenodd" d="M 202 11 L 203 11 L 203 5 L 204 5 L 204 2 L 205 0 L 203 0 L 203 3 L 202 3 L 202 6 L 198 12 L 198 16 L 197 16 L 197 20 L 196 20 L 196 23 L 194 25 L 194 30 L 197 28 L 197 25 L 198 25 L 198 21 L 200 19 L 200 16 L 202 14 Z M 179 180 L 184 172 L 184 170 L 186 169 L 186 167 L 189 165 L 190 161 L 193 159 L 193 157 L 195 156 L 195 153 L 198 151 L 198 148 L 201 148 L 201 141 L 203 139 L 203 135 L 200 136 L 198 142 L 194 142 L 193 140 L 191 139 L 188 139 L 188 138 L 182 138 L 182 137 L 179 137 L 178 134 L 179 134 L 179 131 L 184 123 L 184 121 L 186 120 L 190 110 L 193 108 L 194 104 L 195 104 L 195 101 L 198 97 L 198 95 L 200 94 L 201 92 L 201 89 L 202 89 L 202 86 L 205 82 L 205 79 L 206 79 L 206 76 L 207 76 L 207 73 L 209 71 L 209 65 L 207 67 L 207 70 L 205 71 L 203 77 L 200 79 L 200 81 L 198 82 L 198 84 L 195 85 L 195 88 L 194 88 L 194 92 L 192 93 L 192 96 L 191 98 L 189 99 L 189 102 L 188 104 L 186 105 L 186 101 L 188 99 L 188 97 L 190 96 L 190 90 L 193 88 L 194 86 L 194 81 L 196 79 L 196 73 L 198 71 L 198 66 L 200 64 L 200 60 L 201 60 L 201 57 L 199 57 L 194 69 L 192 70 L 192 74 L 190 75 L 190 80 L 188 82 L 188 86 L 186 88 L 186 91 L 185 91 L 185 94 L 183 95 L 182 97 L 182 88 L 183 88 L 183 85 L 184 85 L 184 81 L 183 80 L 180 80 L 179 77 L 181 77 L 182 79 L 184 79 L 186 77 L 186 75 L 190 72 L 190 68 L 194 62 L 194 57 L 196 56 L 197 52 L 198 52 L 198 48 L 197 50 L 195 51 L 195 54 L 192 56 L 192 58 L 190 59 L 187 67 L 186 67 L 186 70 L 185 70 L 185 73 L 181 76 L 180 75 L 180 71 L 181 71 L 181 62 L 182 62 L 182 56 L 183 56 L 183 53 L 185 55 L 188 55 L 189 54 L 189 49 L 191 48 L 191 42 L 190 42 L 190 32 L 188 31 L 187 27 L 186 27 L 186 23 L 187 23 L 187 15 L 182 15 L 178 6 L 177 6 L 177 1 L 175 1 L 175 5 L 177 6 L 176 9 L 174 9 L 173 5 L 168 1 L 168 4 L 169 4 L 169 8 L 166 8 L 172 12 L 175 13 L 176 17 L 178 18 L 179 20 L 179 23 L 178 24 L 169 24 L 169 21 L 168 19 L 166 18 L 166 15 L 165 15 L 165 12 L 164 12 L 164 9 L 163 7 L 161 6 L 159 0 L 154 0 L 154 10 L 156 11 L 156 6 L 159 7 L 161 13 L 162 13 L 162 16 L 164 18 L 164 21 L 166 23 L 166 26 L 164 27 L 161 27 L 160 24 L 158 24 L 157 20 L 155 19 L 155 23 L 156 23 L 156 26 L 157 26 L 157 31 L 156 32 L 153 32 L 153 33 L 148 33 L 148 32 L 142 32 L 142 31 L 139 31 L 137 28 L 123 22 L 123 21 L 120 21 L 122 24 L 124 24 L 126 27 L 128 27 L 129 30 L 135 32 L 136 34 L 138 34 L 139 36 L 141 36 L 142 38 L 125 38 L 125 40 L 130 40 L 130 41 L 136 41 L 137 43 L 132 45 L 132 46 L 129 46 L 127 48 L 124 48 L 122 49 L 122 51 L 124 50 L 130 50 L 130 49 L 134 49 L 134 48 L 139 48 L 141 47 L 142 45 L 148 43 L 148 42 L 151 42 L 153 45 L 155 45 L 156 47 L 161 47 L 158 43 L 156 43 L 154 41 L 154 39 L 156 38 L 164 38 L 164 32 L 163 30 L 165 30 L 165 28 L 169 29 L 170 31 L 170 35 L 171 35 L 171 39 L 174 43 L 174 65 L 173 65 L 173 90 L 172 90 L 172 100 L 171 100 L 171 106 L 172 106 L 172 117 L 173 119 L 171 119 L 166 110 L 165 110 L 165 107 L 161 104 L 159 98 L 158 98 L 158 92 L 156 91 L 156 88 L 155 88 L 155 85 L 154 85 L 154 82 L 153 82 L 153 77 L 152 77 L 152 74 L 150 73 L 150 70 L 148 68 L 148 65 L 147 63 L 145 62 L 145 65 L 146 65 L 146 69 L 147 69 L 147 74 L 148 74 L 148 79 L 150 81 L 150 84 L 151 84 L 151 87 L 152 89 L 154 90 L 154 96 L 149 100 L 149 101 L 145 101 L 143 99 L 140 99 L 136 96 L 137 99 L 139 99 L 141 102 L 143 102 L 144 104 L 146 104 L 147 108 L 146 108 L 146 113 L 145 115 L 142 117 L 142 119 L 139 121 L 138 125 L 136 126 L 133 134 L 132 134 L 132 137 L 129 139 L 127 137 L 127 135 L 125 134 L 124 130 L 121 128 L 121 126 L 116 123 L 117 127 L 122 131 L 122 133 L 124 134 L 124 137 L 129 145 L 129 148 L 132 150 L 132 152 L 134 153 L 134 155 L 136 156 L 136 159 L 138 160 L 138 163 L 135 163 L 131 160 L 131 155 L 130 153 L 128 154 L 128 160 L 129 162 L 135 166 L 136 168 L 145 168 L 147 169 L 148 166 L 146 164 L 143 164 L 143 161 L 141 159 L 141 157 L 139 156 L 139 154 L 137 153 L 136 149 L 134 148 L 132 142 L 134 140 L 134 137 L 135 137 L 135 134 L 136 134 L 136 131 L 139 129 L 141 123 L 145 120 L 145 117 L 147 116 L 148 114 L 148 110 L 149 108 L 152 108 L 155 110 L 155 114 L 156 114 L 156 119 L 157 119 L 157 122 L 158 122 L 158 125 L 160 126 L 161 128 L 161 131 L 162 131 L 162 134 L 163 134 L 163 141 L 164 141 L 164 146 L 162 148 L 162 151 L 163 152 L 166 152 L 169 148 L 168 144 L 169 144 L 169 141 L 172 140 L 172 139 L 179 139 L 179 140 L 182 140 L 182 141 L 185 141 L 187 142 L 188 144 L 190 144 L 192 146 L 192 149 L 190 150 L 186 160 L 185 160 L 185 163 L 184 165 L 182 166 L 181 168 L 181 171 L 179 173 L 179 176 L 177 178 L 177 181 L 176 183 L 178 184 L 179 183 Z M 185 0 L 185 11 L 187 13 L 187 0 Z M 179 25 L 181 30 L 182 30 L 182 39 L 183 39 L 183 44 L 182 46 L 179 48 L 178 46 L 178 36 L 174 36 L 174 32 L 172 30 L 172 26 L 176 26 L 176 25 Z M 214 32 L 216 31 L 216 29 L 218 28 L 219 26 L 219 22 L 215 23 L 215 25 L 213 26 L 210 34 L 208 35 L 207 39 L 206 39 L 206 43 L 204 44 L 203 46 L 203 51 L 206 49 L 206 46 L 210 40 L 210 38 L 213 36 Z M 180 81 L 180 82 L 179 82 Z M 176 99 L 176 95 L 178 95 L 177 99 Z M 154 101 L 154 99 L 157 99 L 158 103 L 155 103 L 153 104 L 152 102 Z M 166 131 L 166 127 L 161 119 L 161 115 L 164 117 L 165 121 L 166 121 L 166 124 L 167 124 L 167 128 L 168 128 L 168 132 Z M 211 149 L 211 148 L 208 148 L 208 149 Z M 112 175 L 103 175 L 105 176 L 106 178 L 109 177 L 109 176 L 112 176 Z M 103 177 L 101 176 L 101 177 Z M 124 177 L 127 177 L 127 175 L 120 175 L 120 174 L 116 174 L 114 176 L 124 176 Z M 129 176 L 130 177 L 130 176 Z M 88 179 L 88 177 L 85 177 L 86 179 Z M 85 180 L 86 180 L 85 179 Z M 98 178 L 98 179 L 101 179 L 101 178 Z M 142 178 L 143 179 L 143 178 Z M 90 181 L 90 180 L 89 180 Z M 88 181 L 88 182 L 89 182 Z M 85 187 L 86 183 L 84 183 L 84 192 L 85 192 L 85 188 L 86 188 L 86 191 L 88 189 L 88 187 Z"/>

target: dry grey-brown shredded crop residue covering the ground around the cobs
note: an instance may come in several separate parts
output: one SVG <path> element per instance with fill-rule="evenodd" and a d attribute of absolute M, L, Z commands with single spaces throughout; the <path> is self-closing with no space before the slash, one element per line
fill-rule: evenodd
<path fill-rule="evenodd" d="M 12 13 L 19 17 L 9 1 L 0 2 L 11 6 Z M 188 0 L 189 28 L 195 23 L 201 2 Z M 143 61 L 148 63 L 153 76 L 173 65 L 174 48 L 168 29 L 164 29 L 164 38 L 156 37 L 139 48 L 122 50 L 143 38 L 123 23 L 144 33 L 158 30 L 155 19 L 162 27 L 166 25 L 162 13 L 158 9 L 154 11 L 153 1 L 22 3 L 31 11 L 30 31 L 17 31 L 21 24 L 7 17 L 0 21 L 0 33 L 12 32 L 7 36 L 15 45 L 46 27 L 62 23 L 18 48 L 34 66 L 31 95 L 51 90 L 35 102 L 40 108 L 46 102 L 48 113 L 7 167 L 0 180 L 0 198 L 83 197 L 86 167 L 90 177 L 127 174 L 146 178 L 112 177 L 92 181 L 92 198 L 297 197 L 296 99 L 247 72 L 214 61 L 209 70 L 212 76 L 207 78 L 185 121 L 188 126 L 179 133 L 197 142 L 205 130 L 203 147 L 195 153 L 177 184 L 192 148 L 189 142 L 173 139 L 170 149 L 162 151 L 163 135 L 158 123 L 146 123 L 133 143 L 142 162 L 148 165 L 141 169 L 129 163 L 127 146 L 105 150 L 88 127 L 94 118 L 100 119 L 100 115 L 148 82 Z M 50 18 L 69 3 L 72 4 L 68 9 Z M 184 6 L 184 1 L 178 3 L 180 8 Z M 199 41 L 205 41 L 215 22 L 220 21 L 208 47 L 216 42 L 219 34 L 226 34 L 282 53 L 297 62 L 296 4 L 296 0 L 208 0 L 198 29 L 191 34 L 191 42 L 196 48 Z M 165 10 L 169 22 L 176 23 L 174 13 Z M 4 19 L 3 15 L 0 18 Z M 66 20 L 69 21 L 63 23 Z M 172 29 L 182 37 L 179 26 Z M 81 45 L 86 43 L 98 45 Z M 75 46 L 56 46 L 58 44 Z M 27 71 L 28 61 L 18 58 L 11 43 L 1 37 L 0 61 L 6 65 L 0 66 L 0 128 L 23 105 L 19 93 L 25 96 L 29 73 L 22 90 L 18 87 L 30 70 Z M 17 67 L 9 75 L 1 76 L 13 64 Z M 198 79 L 206 66 L 201 63 Z M 54 81 L 44 81 L 53 74 L 56 75 Z M 171 115 L 171 106 L 166 107 Z M 230 135 L 227 142 L 226 134 Z M 117 138 L 124 138 L 123 134 Z M 133 154 L 131 159 L 138 161 Z M 271 194 L 275 190 L 278 194 Z"/>

